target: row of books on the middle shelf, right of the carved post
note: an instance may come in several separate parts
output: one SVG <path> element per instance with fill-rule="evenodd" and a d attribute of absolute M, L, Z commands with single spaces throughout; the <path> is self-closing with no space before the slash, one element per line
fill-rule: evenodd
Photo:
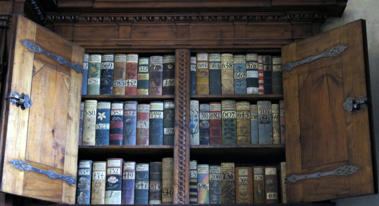
<path fill-rule="evenodd" d="M 189 142 L 209 144 L 285 144 L 284 101 L 190 101 Z"/>

